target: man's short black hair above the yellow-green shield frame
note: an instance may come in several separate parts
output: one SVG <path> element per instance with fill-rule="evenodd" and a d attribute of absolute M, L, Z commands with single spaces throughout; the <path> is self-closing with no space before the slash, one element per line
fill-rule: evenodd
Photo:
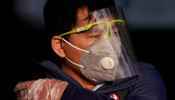
<path fill-rule="evenodd" d="M 44 8 L 44 21 L 48 42 L 53 36 L 68 32 L 76 26 L 79 8 L 88 8 L 89 16 L 87 19 L 90 20 L 91 12 L 114 5 L 114 0 L 47 0 Z M 50 45 L 50 43 L 48 44 Z"/>

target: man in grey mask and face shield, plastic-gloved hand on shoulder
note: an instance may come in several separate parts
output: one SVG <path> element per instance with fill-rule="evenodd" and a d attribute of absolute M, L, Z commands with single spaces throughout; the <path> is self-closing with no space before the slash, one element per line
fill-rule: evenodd
<path fill-rule="evenodd" d="M 44 18 L 56 57 L 23 74 L 18 99 L 166 100 L 156 69 L 135 59 L 113 0 L 48 0 Z"/>

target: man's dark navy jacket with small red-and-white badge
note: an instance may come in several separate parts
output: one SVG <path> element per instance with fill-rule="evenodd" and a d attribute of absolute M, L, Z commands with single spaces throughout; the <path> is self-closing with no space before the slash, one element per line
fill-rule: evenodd
<path fill-rule="evenodd" d="M 158 71 L 149 63 L 139 63 L 138 78 L 125 78 L 104 84 L 95 91 L 83 88 L 76 80 L 64 73 L 56 64 L 45 60 L 29 67 L 21 81 L 39 78 L 55 78 L 69 83 L 61 100 L 167 100 L 166 88 Z M 117 99 L 117 100 L 118 100 Z"/>

